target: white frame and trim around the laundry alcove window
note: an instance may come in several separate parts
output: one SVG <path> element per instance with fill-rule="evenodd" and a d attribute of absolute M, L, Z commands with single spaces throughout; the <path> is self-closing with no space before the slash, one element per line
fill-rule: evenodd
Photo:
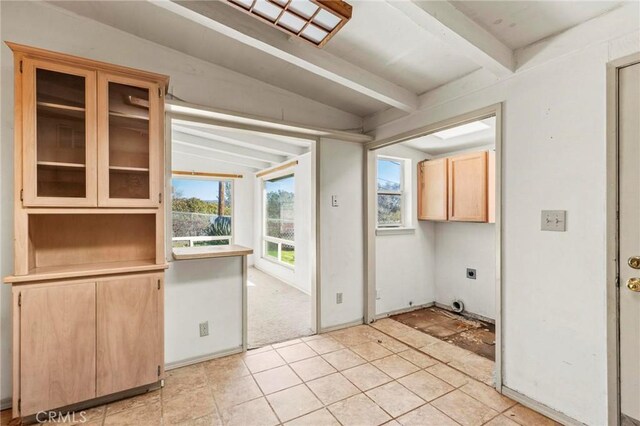
<path fill-rule="evenodd" d="M 388 159 L 401 163 L 400 167 L 400 191 L 378 190 L 378 160 Z M 374 185 L 376 186 L 376 235 L 399 235 L 410 234 L 415 232 L 412 228 L 411 221 L 411 194 L 413 193 L 413 181 L 411 179 L 411 159 L 394 157 L 390 155 L 379 154 L 376 156 L 376 176 Z M 399 225 L 380 225 L 378 223 L 378 195 L 399 195 L 400 196 L 400 224 Z M 405 232 L 406 231 L 406 232 Z"/>

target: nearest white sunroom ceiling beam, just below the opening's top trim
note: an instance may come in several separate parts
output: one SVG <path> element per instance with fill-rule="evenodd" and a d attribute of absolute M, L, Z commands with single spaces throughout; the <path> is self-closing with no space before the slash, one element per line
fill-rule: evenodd
<path fill-rule="evenodd" d="M 174 121 L 174 125 L 172 127 L 173 130 L 202 138 L 215 139 L 246 148 L 258 149 L 271 154 L 297 157 L 298 155 L 302 155 L 307 152 L 306 148 L 284 142 L 287 140 L 286 138 L 276 140 L 252 133 L 212 129 L 211 126 L 206 124 L 187 124 L 186 122 L 179 123 L 180 124 Z"/>

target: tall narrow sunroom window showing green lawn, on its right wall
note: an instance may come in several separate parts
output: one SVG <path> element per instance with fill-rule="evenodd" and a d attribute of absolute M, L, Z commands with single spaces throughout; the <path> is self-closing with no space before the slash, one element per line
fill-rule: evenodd
<path fill-rule="evenodd" d="M 287 266 L 295 265 L 293 175 L 264 180 L 263 257 Z"/>

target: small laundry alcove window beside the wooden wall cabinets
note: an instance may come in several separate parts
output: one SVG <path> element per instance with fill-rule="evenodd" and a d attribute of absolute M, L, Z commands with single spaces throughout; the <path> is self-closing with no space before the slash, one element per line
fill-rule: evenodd
<path fill-rule="evenodd" d="M 405 226 L 405 168 L 408 160 L 378 157 L 378 228 Z M 408 174 L 408 173 L 407 173 Z"/>

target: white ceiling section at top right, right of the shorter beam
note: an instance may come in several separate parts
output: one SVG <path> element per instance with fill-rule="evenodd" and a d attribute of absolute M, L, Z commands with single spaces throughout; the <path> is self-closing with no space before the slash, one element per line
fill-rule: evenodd
<path fill-rule="evenodd" d="M 611 1 L 483 1 L 451 3 L 512 49 L 568 30 L 623 2 Z"/>

